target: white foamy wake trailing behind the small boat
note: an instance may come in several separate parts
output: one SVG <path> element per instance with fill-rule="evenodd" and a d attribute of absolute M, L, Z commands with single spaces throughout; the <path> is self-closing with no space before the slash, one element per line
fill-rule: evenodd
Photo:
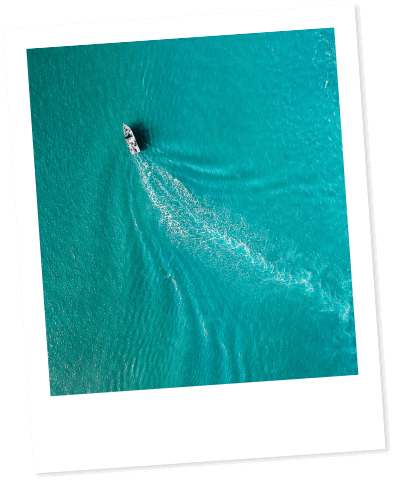
<path fill-rule="evenodd" d="M 160 151 L 158 151 L 159 153 Z M 159 163 L 169 159 L 158 156 L 158 164 L 144 153 L 133 156 L 139 180 L 151 205 L 159 214 L 159 225 L 169 240 L 221 273 L 232 283 L 265 289 L 299 288 L 308 296 L 319 298 L 321 311 L 337 312 L 348 321 L 352 314 L 350 283 L 343 281 L 341 293 L 323 287 L 320 268 L 310 270 L 300 265 L 294 250 L 285 250 L 276 259 L 266 233 L 252 230 L 241 215 L 208 198 L 198 199 L 181 181 Z M 171 161 L 170 161 L 171 162 Z M 261 249 L 257 249 L 260 247 Z M 176 287 L 177 289 L 177 287 Z"/>

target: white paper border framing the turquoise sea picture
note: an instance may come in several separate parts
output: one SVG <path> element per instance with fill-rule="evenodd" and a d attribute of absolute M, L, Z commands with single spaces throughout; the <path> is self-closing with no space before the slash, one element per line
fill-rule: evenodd
<path fill-rule="evenodd" d="M 359 374 L 51 397 L 26 49 L 318 28 L 335 29 Z M 34 473 L 385 449 L 354 5 L 9 28 L 4 48 Z"/>

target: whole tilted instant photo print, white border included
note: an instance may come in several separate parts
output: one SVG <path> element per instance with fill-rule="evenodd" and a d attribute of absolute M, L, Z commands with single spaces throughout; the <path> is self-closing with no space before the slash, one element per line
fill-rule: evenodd
<path fill-rule="evenodd" d="M 385 450 L 355 5 L 3 33 L 32 472 Z"/>

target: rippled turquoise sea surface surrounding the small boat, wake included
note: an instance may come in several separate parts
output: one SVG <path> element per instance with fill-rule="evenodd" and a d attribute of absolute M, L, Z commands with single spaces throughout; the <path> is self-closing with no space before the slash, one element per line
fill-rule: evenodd
<path fill-rule="evenodd" d="M 333 29 L 27 59 L 52 395 L 358 373 Z"/>

